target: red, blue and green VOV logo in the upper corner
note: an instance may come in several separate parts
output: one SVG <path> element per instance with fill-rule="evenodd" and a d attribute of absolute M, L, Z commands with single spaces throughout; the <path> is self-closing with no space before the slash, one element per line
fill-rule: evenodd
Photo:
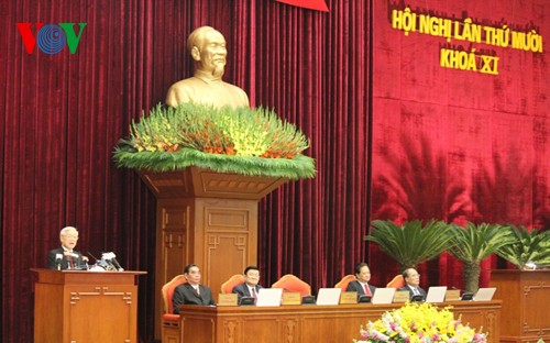
<path fill-rule="evenodd" d="M 58 54 L 69 47 L 70 54 L 75 54 L 82 36 L 84 27 L 87 23 L 78 23 L 78 34 L 75 32 L 76 23 L 59 23 L 44 24 L 34 23 L 36 25 L 35 34 L 32 32 L 32 23 L 15 23 L 23 38 L 26 52 L 32 54 L 37 45 L 41 52 L 48 55 Z"/>

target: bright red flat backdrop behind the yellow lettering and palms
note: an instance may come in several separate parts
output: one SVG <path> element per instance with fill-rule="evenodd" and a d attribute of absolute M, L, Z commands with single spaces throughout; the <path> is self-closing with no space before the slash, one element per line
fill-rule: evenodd
<path fill-rule="evenodd" d="M 550 34 L 544 1 L 374 2 L 371 218 L 549 229 L 548 54 L 393 29 L 392 11 L 407 7 L 417 15 Z M 498 75 L 443 68 L 442 47 L 496 56 Z M 371 255 L 381 256 L 376 246 Z M 482 285 L 497 266 L 506 264 L 483 262 Z M 397 273 L 384 258 L 373 258 L 372 268 Z M 420 273 L 424 285 L 463 287 L 462 265 L 448 255 Z"/>

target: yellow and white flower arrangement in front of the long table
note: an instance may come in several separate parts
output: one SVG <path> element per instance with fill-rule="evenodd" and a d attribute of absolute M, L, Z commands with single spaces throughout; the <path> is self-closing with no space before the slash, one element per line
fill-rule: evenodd
<path fill-rule="evenodd" d="M 366 330 L 361 328 L 362 340 L 355 343 L 370 342 L 407 342 L 407 343 L 484 343 L 486 334 L 475 332 L 464 325 L 461 319 L 454 319 L 450 307 L 438 310 L 429 302 L 406 302 L 402 308 L 385 312 L 374 323 L 369 322 Z"/>

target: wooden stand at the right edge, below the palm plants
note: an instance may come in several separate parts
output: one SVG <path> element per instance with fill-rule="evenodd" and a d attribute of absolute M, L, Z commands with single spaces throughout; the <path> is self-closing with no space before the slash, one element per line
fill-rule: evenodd
<path fill-rule="evenodd" d="M 491 270 L 490 286 L 503 300 L 501 342 L 550 341 L 550 269 Z"/>

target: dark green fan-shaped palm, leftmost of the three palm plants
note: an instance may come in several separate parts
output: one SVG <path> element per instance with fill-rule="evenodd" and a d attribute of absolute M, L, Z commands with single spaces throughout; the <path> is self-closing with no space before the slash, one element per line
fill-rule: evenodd
<path fill-rule="evenodd" d="M 397 261 L 402 272 L 417 268 L 451 247 L 450 226 L 443 221 L 432 219 L 422 225 L 421 220 L 414 220 L 397 225 L 391 220 L 374 220 L 372 226 L 365 240 Z"/>

